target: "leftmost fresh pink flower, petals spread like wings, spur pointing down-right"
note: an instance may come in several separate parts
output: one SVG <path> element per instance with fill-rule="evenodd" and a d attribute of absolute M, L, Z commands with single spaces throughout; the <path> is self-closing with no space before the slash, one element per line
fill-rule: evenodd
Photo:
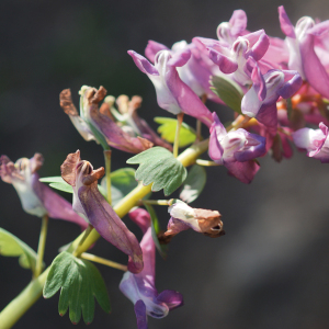
<path fill-rule="evenodd" d="M 174 55 L 171 55 L 169 50 L 160 50 L 157 53 L 154 66 L 134 50 L 129 50 L 128 54 L 133 57 L 139 70 L 152 81 L 160 107 L 174 115 L 184 112 L 211 126 L 212 113 L 195 92 L 181 80 L 177 70 L 178 67 L 184 66 L 190 59 L 190 49 Z"/>

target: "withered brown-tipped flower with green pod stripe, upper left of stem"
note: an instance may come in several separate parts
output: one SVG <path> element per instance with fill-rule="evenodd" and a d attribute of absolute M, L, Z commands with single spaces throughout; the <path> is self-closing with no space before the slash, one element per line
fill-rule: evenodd
<path fill-rule="evenodd" d="M 152 146 L 145 138 L 132 137 L 125 133 L 113 120 L 109 107 L 113 104 L 113 98 L 99 109 L 99 103 L 105 98 L 106 90 L 83 86 L 80 90 L 80 116 L 72 103 L 71 92 L 65 89 L 60 95 L 60 106 L 69 115 L 71 122 L 86 140 L 97 140 L 106 149 L 107 145 L 132 154 L 141 152 Z"/>

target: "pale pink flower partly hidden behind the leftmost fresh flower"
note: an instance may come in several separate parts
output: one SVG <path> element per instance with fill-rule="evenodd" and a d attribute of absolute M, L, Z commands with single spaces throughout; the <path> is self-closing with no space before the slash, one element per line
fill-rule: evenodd
<path fill-rule="evenodd" d="M 211 90 L 209 83 L 211 76 L 218 76 L 220 71 L 218 66 L 208 58 L 206 50 L 197 48 L 193 43 L 188 44 L 185 41 L 174 43 L 170 50 L 162 44 L 149 41 L 145 49 L 145 55 L 151 63 L 155 63 L 156 55 L 160 50 L 170 50 L 170 54 L 175 56 L 188 49 L 191 50 L 191 58 L 184 66 L 177 68 L 180 78 L 198 97 L 206 95 L 207 99 L 220 103 L 220 99 Z"/>

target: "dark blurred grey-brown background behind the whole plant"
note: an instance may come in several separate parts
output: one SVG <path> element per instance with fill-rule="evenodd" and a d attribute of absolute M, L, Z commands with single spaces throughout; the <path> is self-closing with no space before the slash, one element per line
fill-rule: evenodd
<path fill-rule="evenodd" d="M 283 37 L 277 7 L 284 4 L 295 24 L 303 15 L 329 19 L 326 0 L 314 1 L 41 1 L 0 2 L 0 151 L 13 161 L 42 152 L 42 177 L 59 175 L 69 152 L 81 150 L 95 168 L 102 148 L 84 141 L 59 107 L 58 94 L 70 88 L 78 104 L 82 84 L 104 86 L 109 94 L 143 97 L 139 115 L 154 128 L 155 115 L 169 116 L 156 102 L 148 78 L 127 55 L 144 53 L 148 39 L 171 46 L 194 36 L 216 37 L 216 27 L 235 9 L 248 15 L 248 30 L 264 29 Z M 223 121 L 231 113 L 209 104 Z M 193 124 L 193 120 L 188 120 Z M 206 132 L 204 132 L 206 133 Z M 129 155 L 113 150 L 113 169 Z M 188 230 L 170 243 L 169 258 L 157 256 L 157 288 L 177 290 L 185 305 L 167 318 L 149 318 L 149 328 L 329 328 L 328 164 L 295 150 L 291 160 L 260 159 L 250 185 L 207 169 L 204 193 L 192 205 L 218 209 L 226 236 L 209 239 Z M 65 195 L 69 200 L 70 195 Z M 163 197 L 159 193 L 159 197 Z M 0 182 L 0 226 L 37 249 L 41 220 L 25 214 L 14 189 Z M 157 208 L 161 226 L 167 209 Z M 128 218 L 128 227 L 141 235 Z M 45 261 L 79 228 L 50 220 Z M 126 262 L 105 241 L 93 252 Z M 97 305 L 90 328 L 136 328 L 133 304 L 118 290 L 122 272 L 98 265 L 105 279 L 112 314 Z M 0 309 L 30 282 L 15 258 L 0 257 Z M 58 294 L 41 298 L 15 328 L 71 328 L 57 311 Z M 78 327 L 84 327 L 81 320 Z"/>

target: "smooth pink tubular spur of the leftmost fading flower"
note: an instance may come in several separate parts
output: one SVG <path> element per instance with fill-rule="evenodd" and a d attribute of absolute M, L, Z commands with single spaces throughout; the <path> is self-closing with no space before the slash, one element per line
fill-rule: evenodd
<path fill-rule="evenodd" d="M 50 188 L 39 182 L 38 179 L 38 174 L 35 173 L 32 180 L 33 191 L 47 209 L 48 216 L 78 224 L 82 229 L 86 229 L 88 227 L 88 223 L 72 209 L 72 205 L 55 193 Z"/>

